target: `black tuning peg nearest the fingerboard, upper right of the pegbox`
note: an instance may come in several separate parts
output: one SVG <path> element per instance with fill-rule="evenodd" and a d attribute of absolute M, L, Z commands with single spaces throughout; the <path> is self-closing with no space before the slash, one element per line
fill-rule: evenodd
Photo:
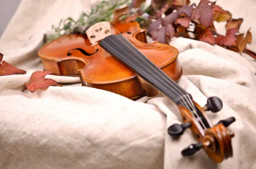
<path fill-rule="evenodd" d="M 207 104 L 203 107 L 204 111 L 211 111 L 212 113 L 217 113 L 222 109 L 222 101 L 218 97 L 209 97 L 207 99 Z"/>

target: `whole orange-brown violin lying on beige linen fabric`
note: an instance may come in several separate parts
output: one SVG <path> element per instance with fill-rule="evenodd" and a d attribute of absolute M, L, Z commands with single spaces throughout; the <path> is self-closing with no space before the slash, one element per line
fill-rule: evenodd
<path fill-rule="evenodd" d="M 233 156 L 234 133 L 227 127 L 236 119 L 230 117 L 213 125 L 206 111 L 220 111 L 221 99 L 210 97 L 200 107 L 177 84 L 182 68 L 175 47 L 147 43 L 145 30 L 135 21 L 100 22 L 83 32 L 64 35 L 44 45 L 38 52 L 44 69 L 59 76 L 79 76 L 82 86 L 129 99 L 161 92 L 177 105 L 183 121 L 170 126 L 168 134 L 176 138 L 189 128 L 198 141 L 183 149 L 182 156 L 194 155 L 200 149 L 217 163 Z"/>

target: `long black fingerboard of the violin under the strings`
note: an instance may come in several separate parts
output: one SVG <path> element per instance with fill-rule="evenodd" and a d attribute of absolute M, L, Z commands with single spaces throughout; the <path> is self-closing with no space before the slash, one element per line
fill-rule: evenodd
<path fill-rule="evenodd" d="M 122 34 L 105 37 L 99 45 L 176 104 L 182 104 L 182 100 L 186 97 L 192 99 L 189 93 L 186 93 Z"/>

